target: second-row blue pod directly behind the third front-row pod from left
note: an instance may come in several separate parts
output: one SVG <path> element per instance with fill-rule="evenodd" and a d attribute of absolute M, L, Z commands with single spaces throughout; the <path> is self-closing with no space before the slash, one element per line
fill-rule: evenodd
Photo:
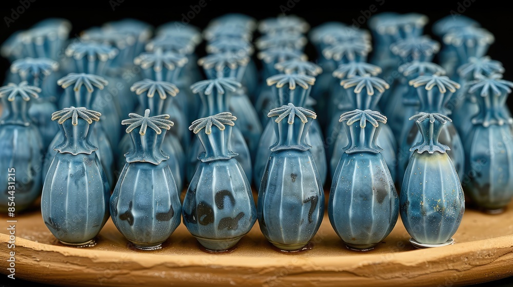
<path fill-rule="evenodd" d="M 239 88 L 241 88 L 241 83 L 232 77 L 203 80 L 191 86 L 192 92 L 198 93 L 201 97 L 203 117 L 228 111 L 230 97 Z M 251 154 L 241 130 L 237 127 L 231 129 L 230 141 L 231 149 L 239 154 L 236 160 L 241 163 L 247 178 L 251 180 L 253 174 Z M 187 179 L 189 181 L 192 180 L 198 168 L 198 154 L 203 150 L 204 146 L 201 145 L 201 141 L 194 138 L 187 157 Z"/>

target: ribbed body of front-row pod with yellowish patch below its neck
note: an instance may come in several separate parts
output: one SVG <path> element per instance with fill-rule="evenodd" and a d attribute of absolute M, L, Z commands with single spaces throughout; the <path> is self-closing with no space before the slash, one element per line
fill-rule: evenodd
<path fill-rule="evenodd" d="M 442 244 L 458 229 L 465 202 L 447 153 L 413 152 L 400 194 L 404 227 L 417 242 Z"/>

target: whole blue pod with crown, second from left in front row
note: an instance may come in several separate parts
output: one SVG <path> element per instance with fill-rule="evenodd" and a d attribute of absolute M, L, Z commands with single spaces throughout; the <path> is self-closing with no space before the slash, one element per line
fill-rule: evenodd
<path fill-rule="evenodd" d="M 180 225 L 182 204 L 174 176 L 162 150 L 165 131 L 173 126 L 169 115 L 129 114 L 122 121 L 132 139 L 126 165 L 110 198 L 110 214 L 116 228 L 137 249 L 162 248 Z"/>

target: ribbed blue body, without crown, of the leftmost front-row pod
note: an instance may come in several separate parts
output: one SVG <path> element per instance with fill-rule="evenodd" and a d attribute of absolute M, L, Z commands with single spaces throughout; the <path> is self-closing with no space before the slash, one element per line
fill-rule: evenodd
<path fill-rule="evenodd" d="M 107 178 L 96 152 L 57 153 L 43 186 L 43 220 L 58 240 L 86 243 L 107 222 L 109 197 Z"/>

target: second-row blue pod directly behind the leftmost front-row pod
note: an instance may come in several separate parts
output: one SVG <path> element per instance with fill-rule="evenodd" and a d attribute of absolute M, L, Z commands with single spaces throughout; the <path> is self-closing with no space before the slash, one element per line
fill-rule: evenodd
<path fill-rule="evenodd" d="M 61 98 L 61 105 L 68 105 L 72 107 L 84 107 L 91 109 L 100 91 L 108 85 L 105 78 L 93 74 L 86 73 L 70 73 L 67 76 L 59 79 L 57 84 L 65 89 L 65 95 Z M 113 123 L 111 123 L 112 125 Z M 90 140 L 92 144 L 98 148 L 96 152 L 100 162 L 102 162 L 103 169 L 107 175 L 109 186 L 114 186 L 114 176 L 112 174 L 114 167 L 114 154 L 112 151 L 111 141 L 105 127 L 101 122 L 97 122 L 91 127 Z M 119 130 L 119 129 L 118 129 Z M 50 168 L 51 159 L 56 154 L 54 147 L 63 141 L 63 134 L 56 134 L 50 145 L 48 146 L 43 168 L 43 179 L 46 178 L 46 172 Z"/>

